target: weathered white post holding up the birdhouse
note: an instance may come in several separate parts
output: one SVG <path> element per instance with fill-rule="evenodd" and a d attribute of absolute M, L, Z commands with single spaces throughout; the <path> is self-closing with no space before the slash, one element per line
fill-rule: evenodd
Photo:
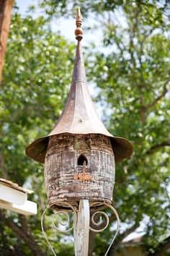
<path fill-rule="evenodd" d="M 76 213 L 76 223 L 73 229 L 75 256 L 88 256 L 89 252 L 89 200 L 80 200 Z"/>

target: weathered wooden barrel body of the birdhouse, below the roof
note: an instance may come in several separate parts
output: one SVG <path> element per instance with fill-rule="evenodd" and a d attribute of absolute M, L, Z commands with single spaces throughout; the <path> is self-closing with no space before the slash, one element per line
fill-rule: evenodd
<path fill-rule="evenodd" d="M 84 167 L 85 163 L 85 167 Z M 54 135 L 45 156 L 48 205 L 112 202 L 115 158 L 105 135 Z"/>

